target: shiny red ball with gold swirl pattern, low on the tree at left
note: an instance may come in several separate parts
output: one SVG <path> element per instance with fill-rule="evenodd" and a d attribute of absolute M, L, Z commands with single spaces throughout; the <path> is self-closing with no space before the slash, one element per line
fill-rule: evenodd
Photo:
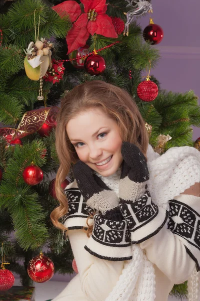
<path fill-rule="evenodd" d="M 54 274 L 54 264 L 52 260 L 40 253 L 28 262 L 28 276 L 35 282 L 46 282 Z"/>

